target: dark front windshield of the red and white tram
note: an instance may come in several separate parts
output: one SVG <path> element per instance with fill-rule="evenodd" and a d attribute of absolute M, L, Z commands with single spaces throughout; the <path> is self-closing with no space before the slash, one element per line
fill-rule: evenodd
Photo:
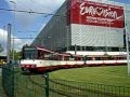
<path fill-rule="evenodd" d="M 24 47 L 23 58 L 24 59 L 36 59 L 37 58 L 37 50 L 35 47 Z"/>

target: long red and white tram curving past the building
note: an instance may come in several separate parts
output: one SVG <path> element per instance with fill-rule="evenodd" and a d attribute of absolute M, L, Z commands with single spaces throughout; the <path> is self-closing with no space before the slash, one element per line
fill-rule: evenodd
<path fill-rule="evenodd" d="M 125 65 L 126 56 L 122 55 L 72 55 L 56 53 L 43 47 L 23 47 L 21 67 L 23 70 L 44 72 L 61 68 L 76 68 L 84 66 Z"/>

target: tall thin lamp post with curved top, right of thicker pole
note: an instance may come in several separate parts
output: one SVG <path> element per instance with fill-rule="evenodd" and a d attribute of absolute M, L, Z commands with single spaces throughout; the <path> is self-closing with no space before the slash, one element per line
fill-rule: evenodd
<path fill-rule="evenodd" d="M 13 39 L 12 39 L 12 60 L 14 61 L 14 33 L 15 33 L 15 10 L 16 10 L 16 3 L 14 1 L 10 1 L 11 3 L 14 4 L 14 19 L 13 19 L 13 24 L 14 24 L 14 28 L 13 28 Z"/>

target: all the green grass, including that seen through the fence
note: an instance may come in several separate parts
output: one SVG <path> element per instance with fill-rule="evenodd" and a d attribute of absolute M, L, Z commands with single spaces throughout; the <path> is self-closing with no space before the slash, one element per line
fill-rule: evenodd
<path fill-rule="evenodd" d="M 8 78 L 10 78 L 10 74 L 8 75 Z M 86 67 L 57 70 L 50 72 L 50 79 L 53 79 L 49 81 L 50 97 L 130 96 L 130 88 L 125 89 L 118 87 L 113 88 L 112 86 L 130 86 L 130 77 L 128 77 L 127 74 L 126 66 Z M 10 85 L 10 81 L 6 81 L 6 84 Z M 44 87 L 46 81 L 42 74 L 24 73 L 23 71 L 21 71 L 20 68 L 15 68 L 15 97 L 43 97 L 46 95 Z M 6 89 L 10 91 L 9 87 L 6 87 Z"/>

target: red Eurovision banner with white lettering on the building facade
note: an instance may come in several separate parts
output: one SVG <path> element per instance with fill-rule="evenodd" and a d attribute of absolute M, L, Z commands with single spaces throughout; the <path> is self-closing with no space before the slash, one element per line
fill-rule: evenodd
<path fill-rule="evenodd" d="M 118 5 L 72 0 L 70 24 L 123 28 L 123 8 Z"/>

